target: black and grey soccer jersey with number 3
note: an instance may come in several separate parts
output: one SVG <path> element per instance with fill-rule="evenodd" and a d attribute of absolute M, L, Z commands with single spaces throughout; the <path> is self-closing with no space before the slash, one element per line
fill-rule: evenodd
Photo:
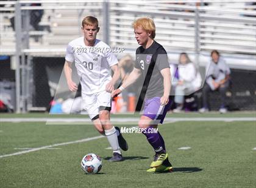
<path fill-rule="evenodd" d="M 135 68 L 143 73 L 143 87 L 147 87 L 146 98 L 162 97 L 163 76 L 160 71 L 169 68 L 167 53 L 163 46 L 154 41 L 148 49 L 138 47 Z"/>

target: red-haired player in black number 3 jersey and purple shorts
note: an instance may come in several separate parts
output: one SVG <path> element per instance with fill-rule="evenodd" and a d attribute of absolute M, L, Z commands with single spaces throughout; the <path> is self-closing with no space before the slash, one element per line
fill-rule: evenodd
<path fill-rule="evenodd" d="M 144 109 L 138 126 L 143 128 L 143 134 L 155 150 L 154 161 L 147 172 L 171 171 L 172 166 L 168 160 L 163 137 L 158 131 L 152 131 L 159 123 L 163 123 L 166 112 L 171 106 L 169 101 L 171 73 L 167 53 L 163 46 L 154 40 L 155 24 L 151 18 L 139 18 L 132 25 L 135 39 L 140 44 L 136 50 L 135 67 L 126 81 L 113 91 L 112 96 L 118 95 L 141 75 L 143 76 L 140 99 L 143 99 Z"/>

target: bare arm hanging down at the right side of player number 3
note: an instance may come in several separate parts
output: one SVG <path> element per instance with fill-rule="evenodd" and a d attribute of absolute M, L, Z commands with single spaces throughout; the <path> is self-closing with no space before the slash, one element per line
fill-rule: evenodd
<path fill-rule="evenodd" d="M 161 75 L 163 76 L 163 96 L 160 99 L 162 105 L 169 102 L 169 94 L 171 91 L 171 73 L 169 68 L 162 69 Z"/>

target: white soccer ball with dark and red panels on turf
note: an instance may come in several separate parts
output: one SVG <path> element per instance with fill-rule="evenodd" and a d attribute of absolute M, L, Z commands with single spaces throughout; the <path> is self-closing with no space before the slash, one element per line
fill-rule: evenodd
<path fill-rule="evenodd" d="M 81 167 L 85 173 L 98 173 L 102 167 L 101 157 L 94 153 L 88 153 L 83 157 Z"/>

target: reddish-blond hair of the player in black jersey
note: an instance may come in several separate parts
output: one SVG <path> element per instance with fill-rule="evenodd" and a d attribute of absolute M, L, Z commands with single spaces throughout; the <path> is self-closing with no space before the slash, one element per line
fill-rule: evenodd
<path fill-rule="evenodd" d="M 155 38 L 155 23 L 151 18 L 138 18 L 132 23 L 133 29 L 142 27 L 146 32 L 151 32 L 151 38 Z"/>

